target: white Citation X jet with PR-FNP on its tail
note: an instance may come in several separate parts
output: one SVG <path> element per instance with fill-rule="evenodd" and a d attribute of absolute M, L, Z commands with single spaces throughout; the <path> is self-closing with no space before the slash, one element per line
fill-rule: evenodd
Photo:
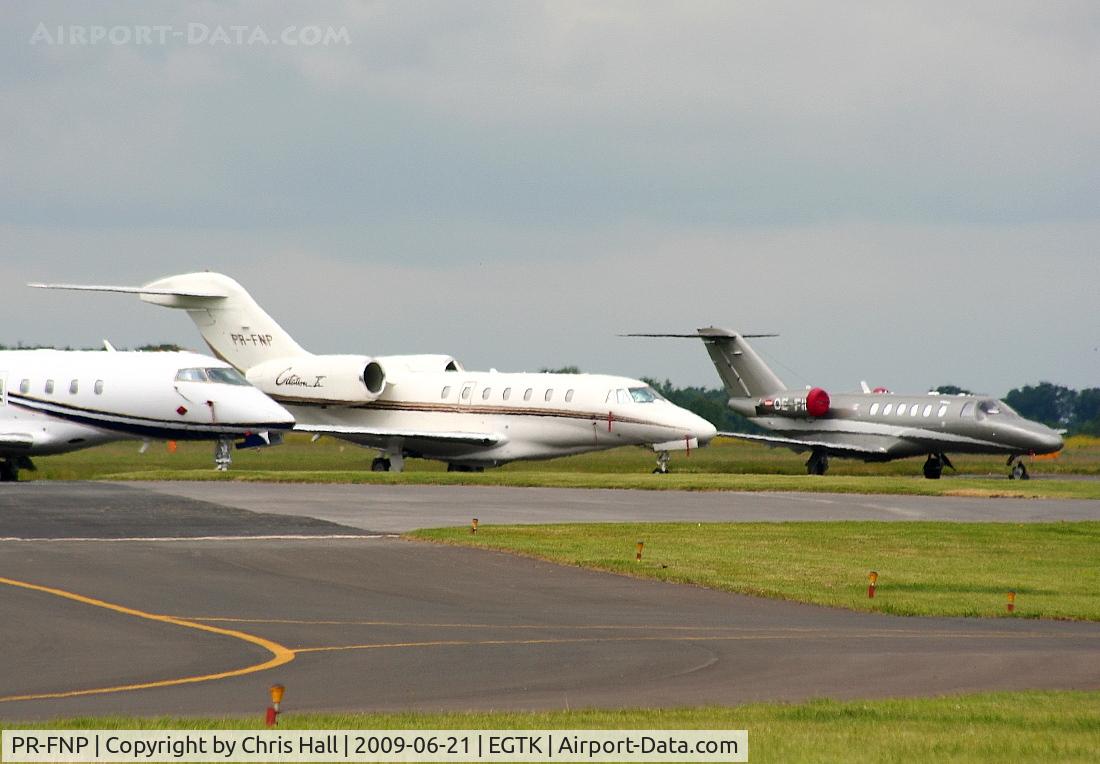
<path fill-rule="evenodd" d="M 221 274 L 143 287 L 31 286 L 131 292 L 186 310 L 218 357 L 290 410 L 296 430 L 377 449 L 377 472 L 400 470 L 410 456 L 471 470 L 620 445 L 652 447 L 654 472 L 667 472 L 670 451 L 690 452 L 716 434 L 627 377 L 469 372 L 449 355 L 315 355 Z"/>

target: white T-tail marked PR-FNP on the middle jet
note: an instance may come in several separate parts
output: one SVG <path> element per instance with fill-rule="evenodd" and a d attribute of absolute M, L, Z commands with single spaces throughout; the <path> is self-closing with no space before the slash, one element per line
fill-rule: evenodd
<path fill-rule="evenodd" d="M 266 361 L 310 355 L 252 299 L 244 287 L 222 274 L 180 274 L 141 287 L 75 284 L 31 286 L 131 292 L 145 302 L 186 310 L 213 354 L 241 372 L 248 372 Z"/>

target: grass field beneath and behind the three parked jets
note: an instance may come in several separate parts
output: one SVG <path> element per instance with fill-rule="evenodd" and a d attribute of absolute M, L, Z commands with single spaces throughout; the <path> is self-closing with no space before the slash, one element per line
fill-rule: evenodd
<path fill-rule="evenodd" d="M 1100 499 L 1100 481 L 1043 480 L 1053 475 L 1100 474 L 1100 440 L 1070 439 L 1057 459 L 1036 461 L 1036 479 L 1005 479 L 1003 459 L 958 456 L 959 475 L 942 480 L 920 476 L 921 459 L 864 464 L 834 459 L 824 477 L 805 475 L 803 458 L 785 449 L 719 439 L 715 444 L 673 458 L 673 473 L 652 475 L 653 454 L 644 449 L 614 451 L 521 462 L 484 473 L 447 473 L 439 462 L 409 459 L 404 473 L 371 473 L 374 452 L 332 439 L 309 442 L 292 435 L 276 449 L 240 451 L 230 473 L 212 468 L 207 443 L 180 443 L 170 453 L 153 444 L 139 454 L 135 443 L 36 459 L 30 479 L 241 479 L 295 483 L 383 483 L 410 485 L 501 485 L 578 488 L 635 488 L 681 490 L 798 490 L 949 496 L 1003 496 L 1018 498 Z"/>

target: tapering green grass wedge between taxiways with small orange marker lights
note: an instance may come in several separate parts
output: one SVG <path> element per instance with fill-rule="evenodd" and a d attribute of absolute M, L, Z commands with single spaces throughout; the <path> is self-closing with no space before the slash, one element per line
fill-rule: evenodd
<path fill-rule="evenodd" d="M 1100 620 L 1100 522 L 493 525 L 406 538 L 898 616 Z M 645 542 L 641 562 L 636 543 Z M 873 599 L 868 573 L 879 574 Z M 1015 591 L 1015 612 L 1007 593 Z"/>

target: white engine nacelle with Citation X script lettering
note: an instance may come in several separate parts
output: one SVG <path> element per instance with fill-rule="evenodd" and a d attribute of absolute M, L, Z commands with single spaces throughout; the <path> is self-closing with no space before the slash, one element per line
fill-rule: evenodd
<path fill-rule="evenodd" d="M 386 387 L 386 370 L 366 355 L 304 355 L 265 361 L 244 375 L 276 400 L 332 406 L 370 403 Z"/>

